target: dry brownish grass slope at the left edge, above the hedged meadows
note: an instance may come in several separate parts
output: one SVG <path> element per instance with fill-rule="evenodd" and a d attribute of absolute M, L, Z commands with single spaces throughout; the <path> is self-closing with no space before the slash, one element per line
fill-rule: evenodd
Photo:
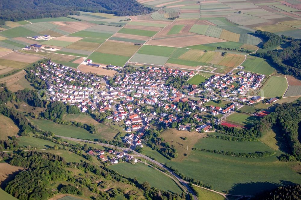
<path fill-rule="evenodd" d="M 18 126 L 9 117 L 0 114 L 0 140 L 7 140 L 8 137 L 17 135 L 19 132 Z"/>

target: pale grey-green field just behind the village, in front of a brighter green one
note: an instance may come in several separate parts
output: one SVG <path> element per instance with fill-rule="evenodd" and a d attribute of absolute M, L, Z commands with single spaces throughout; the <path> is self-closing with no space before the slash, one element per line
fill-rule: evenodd
<path fill-rule="evenodd" d="M 136 53 L 130 60 L 130 62 L 154 64 L 154 65 L 164 65 L 168 60 L 165 56 L 154 56 L 148 54 Z"/>

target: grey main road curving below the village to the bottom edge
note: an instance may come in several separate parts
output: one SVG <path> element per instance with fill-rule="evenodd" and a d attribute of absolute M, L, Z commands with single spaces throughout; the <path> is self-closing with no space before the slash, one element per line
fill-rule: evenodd
<path fill-rule="evenodd" d="M 61 135 L 55 135 L 57 137 L 60 137 L 60 138 L 63 138 L 63 139 L 67 139 L 67 140 L 73 140 L 73 141 L 84 141 L 84 142 L 92 142 L 92 143 L 95 143 L 95 144 L 99 144 L 101 146 L 104 146 L 104 147 L 110 147 L 110 148 L 118 148 L 118 149 L 121 149 L 123 151 L 129 151 L 129 150 L 132 150 L 130 148 L 122 148 L 122 147 L 117 147 L 117 146 L 114 146 L 114 145 L 110 145 L 110 144 L 105 144 L 105 143 L 101 143 L 101 142 L 93 142 L 93 141 L 89 141 L 89 140 L 81 140 L 81 139 L 77 139 L 77 138 L 69 138 L 69 137 L 64 137 L 64 136 L 61 136 Z M 183 180 L 181 177 L 179 177 L 177 174 L 175 174 L 175 172 L 171 171 L 169 168 L 165 167 L 162 163 L 160 162 L 157 162 L 141 153 L 138 153 L 136 151 L 133 151 L 134 154 L 140 156 L 141 158 L 144 158 L 154 164 L 156 164 L 157 166 L 167 170 L 173 177 L 175 177 L 186 189 L 189 193 L 191 193 L 193 195 L 193 198 L 194 200 L 198 200 L 197 199 L 197 196 L 194 194 L 194 192 L 192 191 L 192 189 L 188 186 L 188 182 Z"/>

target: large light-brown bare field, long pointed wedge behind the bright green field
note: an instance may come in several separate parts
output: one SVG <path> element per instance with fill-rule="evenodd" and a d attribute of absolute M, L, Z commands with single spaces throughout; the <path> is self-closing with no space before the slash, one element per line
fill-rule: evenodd
<path fill-rule="evenodd" d="M 146 44 L 161 45 L 170 47 L 187 47 L 198 44 L 209 44 L 215 42 L 225 42 L 219 38 L 212 38 L 206 35 L 192 35 L 187 37 L 167 38 L 161 40 L 150 40 Z"/>

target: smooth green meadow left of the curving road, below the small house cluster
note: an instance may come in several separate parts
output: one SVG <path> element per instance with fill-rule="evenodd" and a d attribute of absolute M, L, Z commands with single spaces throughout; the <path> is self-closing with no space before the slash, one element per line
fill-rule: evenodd
<path fill-rule="evenodd" d="M 136 177 L 139 183 L 147 181 L 151 187 L 156 187 L 161 190 L 169 192 L 182 193 L 178 185 L 162 172 L 152 168 L 151 166 L 144 165 L 143 163 L 130 164 L 128 162 L 110 165 L 110 169 L 117 171 L 119 174 L 134 178 Z"/>

